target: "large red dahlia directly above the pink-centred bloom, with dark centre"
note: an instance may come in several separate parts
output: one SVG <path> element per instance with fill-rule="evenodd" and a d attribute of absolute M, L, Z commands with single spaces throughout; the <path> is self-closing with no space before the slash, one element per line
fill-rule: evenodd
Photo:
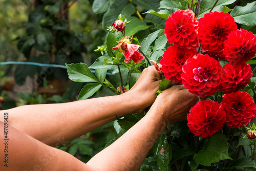
<path fill-rule="evenodd" d="M 219 52 L 231 31 L 237 30 L 229 13 L 209 12 L 199 19 L 198 37 L 204 50 Z"/>

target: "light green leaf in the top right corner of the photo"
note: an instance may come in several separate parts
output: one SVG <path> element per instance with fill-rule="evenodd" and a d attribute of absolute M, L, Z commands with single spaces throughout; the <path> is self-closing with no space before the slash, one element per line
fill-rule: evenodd
<path fill-rule="evenodd" d="M 255 26 L 256 25 L 256 1 L 252 3 L 248 3 L 246 6 L 236 6 L 231 11 L 230 15 L 234 17 L 234 21 L 236 23 L 247 25 L 247 26 Z"/>

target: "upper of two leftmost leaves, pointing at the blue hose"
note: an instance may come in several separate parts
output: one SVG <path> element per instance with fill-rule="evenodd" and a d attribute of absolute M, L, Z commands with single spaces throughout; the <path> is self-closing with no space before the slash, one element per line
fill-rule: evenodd
<path fill-rule="evenodd" d="M 77 82 L 99 82 L 85 63 L 67 64 L 69 79 Z"/>

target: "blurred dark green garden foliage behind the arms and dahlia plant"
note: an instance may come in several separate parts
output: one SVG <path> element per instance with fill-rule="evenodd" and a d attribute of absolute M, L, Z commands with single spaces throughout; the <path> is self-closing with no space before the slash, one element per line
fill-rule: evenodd
<path fill-rule="evenodd" d="M 161 46 L 154 49 L 150 56 L 159 61 L 163 51 L 169 46 L 164 36 L 160 38 L 165 19 L 177 9 L 165 7 L 170 3 L 179 5 L 181 2 L 183 1 L 0 0 L 0 62 L 25 61 L 61 66 L 65 66 L 65 63 L 84 62 L 91 66 L 101 56 L 101 53 L 94 50 L 104 44 L 106 28 L 112 25 L 119 14 L 125 14 L 127 20 L 131 20 L 125 34 L 133 34 L 139 42 L 159 30 L 155 37 L 158 39 L 148 40 L 148 50 L 144 49 L 144 52 L 150 53 L 154 47 L 151 44 L 162 41 Z M 234 3 L 229 3 L 227 7 L 232 9 L 236 5 L 245 6 L 253 0 L 232 2 Z M 238 26 L 256 34 L 255 26 Z M 106 75 L 106 78 L 115 82 L 116 77 Z M 0 66 L 0 110 L 25 104 L 75 101 L 84 85 L 86 83 L 70 81 L 67 70 L 63 68 L 3 65 Z M 113 86 L 119 87 L 117 84 Z M 112 94 L 101 88 L 92 98 L 108 95 Z M 131 123 L 133 124 L 135 122 Z M 177 130 L 179 131 L 182 132 Z M 87 162 L 124 132 L 120 128 L 117 133 L 112 122 L 70 142 L 60 141 L 61 145 L 57 148 Z M 150 153 L 153 154 L 152 151 Z M 148 167 L 148 164 L 151 166 Z M 147 158 L 143 168 L 158 170 L 156 162 L 151 158 Z"/>

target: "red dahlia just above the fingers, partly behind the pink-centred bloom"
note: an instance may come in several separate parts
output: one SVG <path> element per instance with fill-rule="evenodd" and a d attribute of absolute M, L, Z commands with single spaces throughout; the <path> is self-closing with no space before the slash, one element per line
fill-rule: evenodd
<path fill-rule="evenodd" d="M 170 46 L 163 52 L 163 58 L 160 60 L 162 72 L 165 78 L 181 82 L 182 66 L 187 59 L 198 54 L 195 49 L 181 49 L 175 46 Z"/>

